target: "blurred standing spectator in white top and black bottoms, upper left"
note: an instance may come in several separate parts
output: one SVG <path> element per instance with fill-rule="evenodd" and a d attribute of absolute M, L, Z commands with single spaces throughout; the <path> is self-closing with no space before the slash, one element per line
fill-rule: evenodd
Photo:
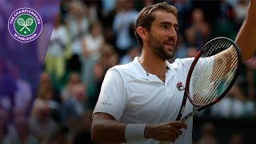
<path fill-rule="evenodd" d="M 68 70 L 81 72 L 82 38 L 88 33 L 89 22 L 86 5 L 80 1 L 70 2 L 66 17 L 71 50 L 71 58 L 67 63 Z"/>

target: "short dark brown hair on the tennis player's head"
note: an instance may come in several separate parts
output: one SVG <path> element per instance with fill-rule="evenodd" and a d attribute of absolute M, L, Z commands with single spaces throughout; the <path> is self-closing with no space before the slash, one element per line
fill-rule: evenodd
<path fill-rule="evenodd" d="M 151 24 L 155 19 L 155 12 L 158 10 L 164 10 L 167 13 L 174 14 L 175 18 L 178 18 L 178 10 L 175 6 L 168 4 L 167 2 L 157 3 L 155 5 L 144 7 L 140 13 L 138 14 L 138 18 L 136 20 L 136 29 L 138 26 L 144 27 L 146 30 L 150 31 Z M 137 38 L 138 43 L 143 47 L 142 38 L 138 35 L 135 29 L 135 36 Z"/>

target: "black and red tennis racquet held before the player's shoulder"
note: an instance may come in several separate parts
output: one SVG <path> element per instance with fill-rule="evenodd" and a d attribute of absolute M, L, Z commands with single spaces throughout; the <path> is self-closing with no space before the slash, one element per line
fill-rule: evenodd
<path fill-rule="evenodd" d="M 241 52 L 234 41 L 219 37 L 207 42 L 190 66 L 176 120 L 185 122 L 219 102 L 234 85 L 241 65 Z M 197 109 L 182 118 L 187 98 Z"/>

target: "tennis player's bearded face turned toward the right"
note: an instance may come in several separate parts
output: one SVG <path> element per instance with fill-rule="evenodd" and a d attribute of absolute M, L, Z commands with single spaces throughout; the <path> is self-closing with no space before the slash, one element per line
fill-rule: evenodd
<path fill-rule="evenodd" d="M 150 50 L 164 60 L 173 58 L 177 42 L 177 30 L 178 22 L 174 14 L 157 11 L 150 29 Z"/>

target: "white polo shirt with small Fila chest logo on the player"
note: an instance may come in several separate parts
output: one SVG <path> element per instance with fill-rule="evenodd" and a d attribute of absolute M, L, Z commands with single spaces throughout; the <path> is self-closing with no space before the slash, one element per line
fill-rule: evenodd
<path fill-rule="evenodd" d="M 123 123 L 160 123 L 174 121 L 182 104 L 186 75 L 194 58 L 176 59 L 167 62 L 166 80 L 147 74 L 138 57 L 126 65 L 107 71 L 101 93 L 94 109 L 107 113 Z M 180 89 L 177 85 L 179 83 Z M 182 86 L 181 86 L 182 85 Z M 189 100 L 187 100 L 189 101 Z M 186 102 L 182 116 L 192 112 L 193 106 Z M 175 143 L 192 143 L 193 118 L 186 121 L 187 129 Z M 159 143 L 154 139 L 131 143 Z"/>

